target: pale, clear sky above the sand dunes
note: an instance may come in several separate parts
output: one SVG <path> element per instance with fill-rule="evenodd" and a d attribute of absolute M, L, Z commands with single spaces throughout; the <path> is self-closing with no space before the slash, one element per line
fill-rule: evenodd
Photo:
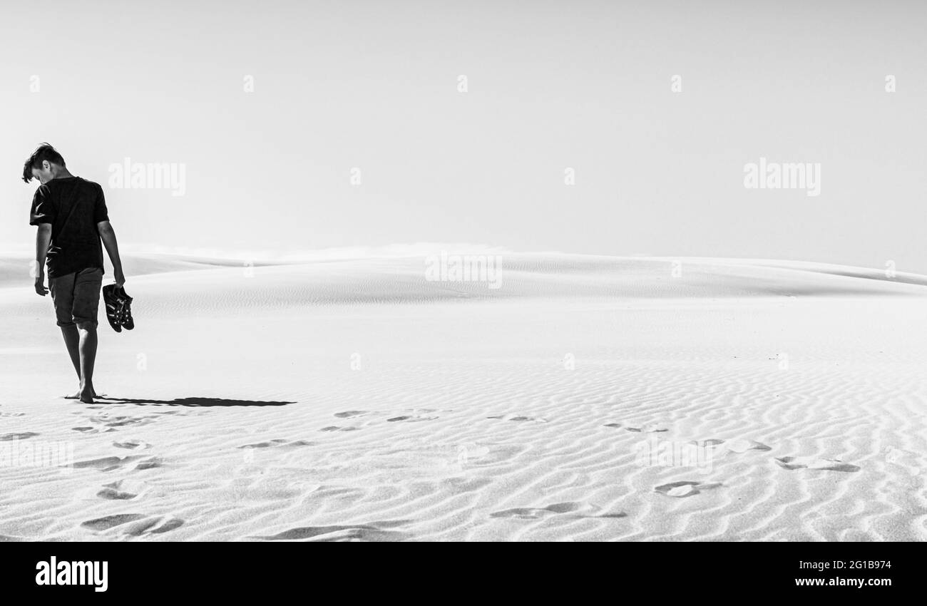
<path fill-rule="evenodd" d="M 104 186 L 130 250 L 463 242 L 927 273 L 922 2 L 0 10 L 0 249 L 32 246 L 19 176 L 47 141 Z M 183 191 L 114 186 L 126 158 Z M 760 158 L 819 166 L 819 195 L 745 187 Z"/>

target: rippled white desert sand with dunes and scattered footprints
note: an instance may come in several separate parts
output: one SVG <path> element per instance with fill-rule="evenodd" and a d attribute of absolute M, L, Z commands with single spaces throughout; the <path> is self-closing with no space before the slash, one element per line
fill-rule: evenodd
<path fill-rule="evenodd" d="M 84 405 L 0 259 L 0 540 L 927 538 L 927 278 L 672 260 L 131 259 Z"/>

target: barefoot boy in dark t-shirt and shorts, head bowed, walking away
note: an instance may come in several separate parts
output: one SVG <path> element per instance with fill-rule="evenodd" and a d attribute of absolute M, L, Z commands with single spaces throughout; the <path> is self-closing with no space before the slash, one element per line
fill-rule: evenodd
<path fill-rule="evenodd" d="M 39 146 L 26 160 L 22 180 L 38 179 L 29 224 L 35 225 L 35 292 L 51 290 L 57 325 L 70 361 L 80 378 L 78 392 L 68 398 L 92 404 L 96 359 L 96 312 L 103 284 L 103 250 L 107 247 L 116 284 L 125 284 L 116 233 L 109 224 L 103 188 L 72 175 L 54 147 Z M 48 260 L 48 289 L 44 264 Z"/>

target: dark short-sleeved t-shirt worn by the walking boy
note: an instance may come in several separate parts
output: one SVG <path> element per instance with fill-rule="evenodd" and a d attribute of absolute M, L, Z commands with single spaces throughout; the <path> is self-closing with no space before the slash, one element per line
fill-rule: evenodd
<path fill-rule="evenodd" d="M 103 188 L 80 177 L 52 179 L 32 198 L 30 225 L 51 223 L 48 277 L 92 267 L 103 269 L 103 246 L 96 223 L 109 221 Z"/>

